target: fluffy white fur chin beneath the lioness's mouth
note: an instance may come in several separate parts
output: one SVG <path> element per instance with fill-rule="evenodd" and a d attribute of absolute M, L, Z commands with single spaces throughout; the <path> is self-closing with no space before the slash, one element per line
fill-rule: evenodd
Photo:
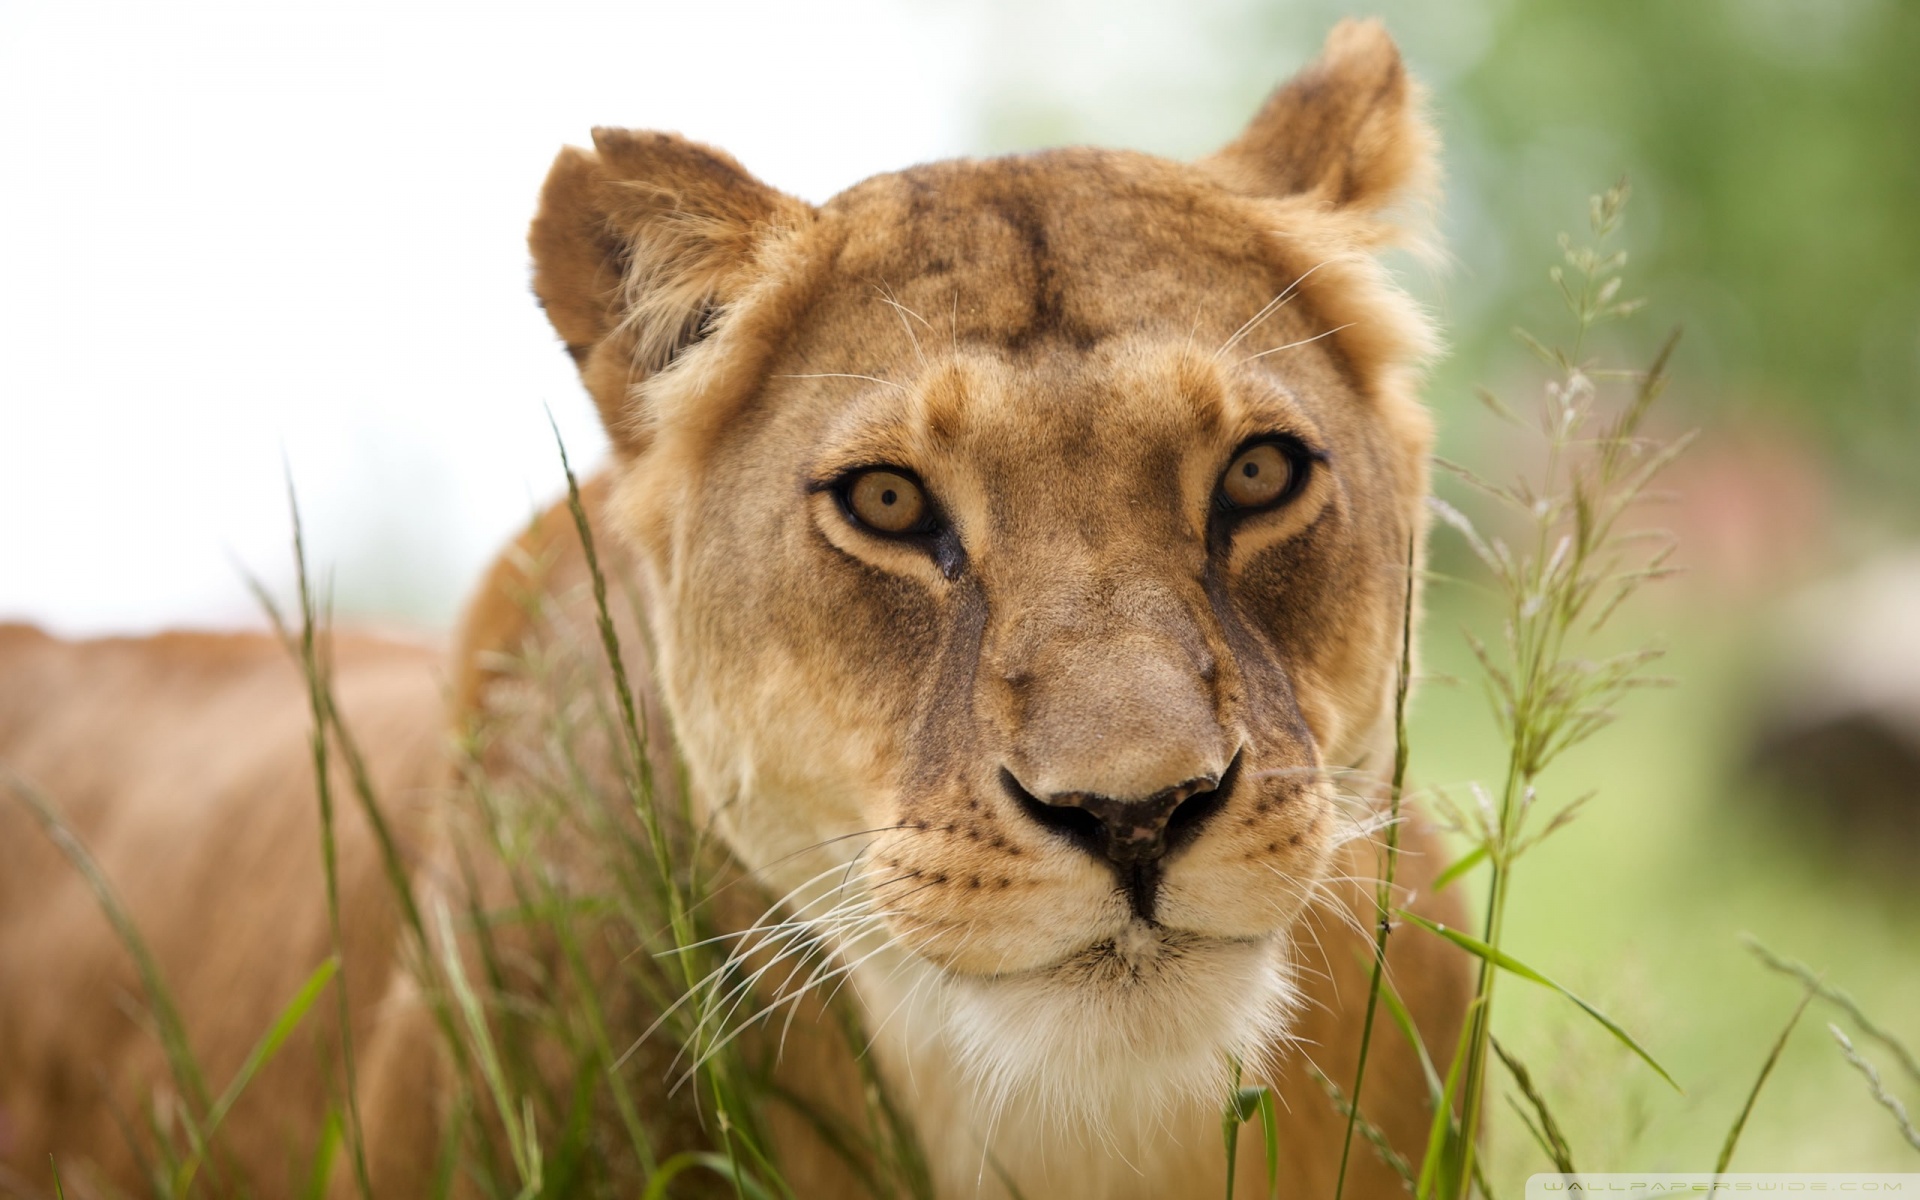
<path fill-rule="evenodd" d="M 947 1037 L 991 1121 L 1129 1137 L 1225 1104 L 1238 1060 L 1267 1066 L 1298 989 L 1286 939 L 1133 922 L 1060 962 L 950 975 Z"/>

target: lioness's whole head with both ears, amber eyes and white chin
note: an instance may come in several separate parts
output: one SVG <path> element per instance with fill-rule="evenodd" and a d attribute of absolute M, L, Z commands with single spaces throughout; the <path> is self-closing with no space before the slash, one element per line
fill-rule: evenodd
<path fill-rule="evenodd" d="M 732 849 L 876 964 L 876 1020 L 931 983 L 1002 1091 L 1258 1054 L 1421 530 L 1423 328 L 1367 257 L 1425 161 L 1390 42 L 1342 27 L 1198 165 L 935 163 L 814 209 L 595 146 L 536 288 Z"/>

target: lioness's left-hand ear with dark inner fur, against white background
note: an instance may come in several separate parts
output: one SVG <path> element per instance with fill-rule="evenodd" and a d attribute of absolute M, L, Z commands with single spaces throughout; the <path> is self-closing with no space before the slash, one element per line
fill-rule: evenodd
<path fill-rule="evenodd" d="M 634 384 L 705 338 L 751 284 L 760 244 L 812 215 L 676 134 L 595 129 L 591 152 L 553 159 L 528 232 L 534 294 L 614 447 L 641 444 Z"/>

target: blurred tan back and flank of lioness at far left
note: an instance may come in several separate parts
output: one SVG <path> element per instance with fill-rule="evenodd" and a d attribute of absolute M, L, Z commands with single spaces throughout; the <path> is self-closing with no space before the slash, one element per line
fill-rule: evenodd
<path fill-rule="evenodd" d="M 365 730 L 392 818 L 419 841 L 445 789 L 440 653 L 340 637 L 340 705 Z M 265 636 L 65 643 L 0 626 L 0 766 L 54 801 L 138 922 L 217 1092 L 332 952 L 307 695 Z M 6 791 L 0 785 L 0 791 Z M 351 1006 L 388 987 L 396 912 L 351 804 L 338 822 Z M 0 1194 L 134 1190 L 131 1135 L 169 1091 L 140 979 L 88 883 L 13 795 L 0 803 Z M 305 1033 L 338 1037 L 321 1004 Z M 326 1096 L 305 1033 L 223 1142 L 265 1188 L 294 1185 Z M 159 1100 L 165 1110 L 165 1100 Z M 31 1187 L 29 1187 L 31 1181 Z"/>

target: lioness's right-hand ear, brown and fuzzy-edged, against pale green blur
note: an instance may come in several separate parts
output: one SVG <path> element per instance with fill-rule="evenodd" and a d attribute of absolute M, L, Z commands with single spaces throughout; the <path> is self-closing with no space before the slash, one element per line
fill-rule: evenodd
<path fill-rule="evenodd" d="M 1340 21 L 1321 56 L 1200 165 L 1246 196 L 1308 196 L 1375 215 L 1432 184 L 1434 136 L 1421 100 L 1379 21 Z"/>

